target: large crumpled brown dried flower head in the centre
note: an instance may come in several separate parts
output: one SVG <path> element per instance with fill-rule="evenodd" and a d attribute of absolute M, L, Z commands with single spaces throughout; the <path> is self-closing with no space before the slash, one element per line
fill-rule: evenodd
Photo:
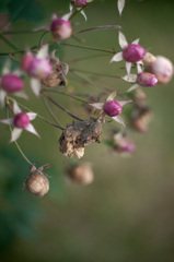
<path fill-rule="evenodd" d="M 76 155 L 81 158 L 84 155 L 84 146 L 93 142 L 101 142 L 102 124 L 104 116 L 98 119 L 90 118 L 84 121 L 73 121 L 63 130 L 60 139 L 60 152 L 68 157 Z"/>

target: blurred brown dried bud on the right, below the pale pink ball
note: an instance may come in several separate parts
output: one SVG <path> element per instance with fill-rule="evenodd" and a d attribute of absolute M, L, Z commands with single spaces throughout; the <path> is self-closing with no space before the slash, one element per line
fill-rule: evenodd
<path fill-rule="evenodd" d="M 141 133 L 148 131 L 152 114 L 147 103 L 137 103 L 131 114 L 130 123 L 132 128 Z"/>

